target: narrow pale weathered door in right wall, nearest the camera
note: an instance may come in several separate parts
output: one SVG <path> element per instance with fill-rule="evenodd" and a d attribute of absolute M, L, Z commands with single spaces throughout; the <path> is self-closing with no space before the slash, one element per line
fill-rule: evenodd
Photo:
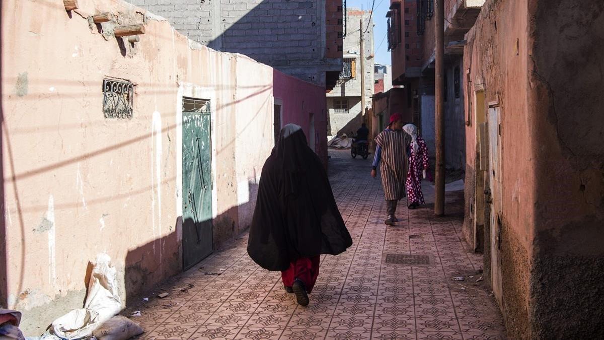
<path fill-rule="evenodd" d="M 500 108 L 489 107 L 487 125 L 489 127 L 489 190 L 487 202 L 490 203 L 490 263 L 493 293 L 501 303 L 503 288 L 501 286 L 501 165 L 499 118 Z"/>

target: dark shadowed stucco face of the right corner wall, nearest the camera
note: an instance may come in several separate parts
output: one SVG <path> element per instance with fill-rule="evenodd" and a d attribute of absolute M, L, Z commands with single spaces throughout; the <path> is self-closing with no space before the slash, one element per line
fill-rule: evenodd
<path fill-rule="evenodd" d="M 529 8 L 535 137 L 546 146 L 536 150 L 533 332 L 601 339 L 604 3 L 531 1 Z"/>

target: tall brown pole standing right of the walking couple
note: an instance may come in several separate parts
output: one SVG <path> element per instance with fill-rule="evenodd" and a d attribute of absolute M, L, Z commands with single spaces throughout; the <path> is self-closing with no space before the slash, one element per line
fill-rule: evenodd
<path fill-rule="evenodd" d="M 436 0 L 435 8 L 435 91 L 436 91 L 436 174 L 434 214 L 445 215 L 445 0 Z"/>

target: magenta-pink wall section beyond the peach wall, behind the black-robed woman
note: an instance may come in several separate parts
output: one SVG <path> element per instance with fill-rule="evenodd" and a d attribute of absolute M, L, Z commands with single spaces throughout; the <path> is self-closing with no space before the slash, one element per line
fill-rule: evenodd
<path fill-rule="evenodd" d="M 315 152 L 327 165 L 327 115 L 325 89 L 312 83 L 301 82 L 280 71 L 273 72 L 273 95 L 283 100 L 282 125 L 294 123 L 302 126 L 310 141 L 310 114 L 315 117 Z M 311 146 L 312 147 L 312 146 Z"/>

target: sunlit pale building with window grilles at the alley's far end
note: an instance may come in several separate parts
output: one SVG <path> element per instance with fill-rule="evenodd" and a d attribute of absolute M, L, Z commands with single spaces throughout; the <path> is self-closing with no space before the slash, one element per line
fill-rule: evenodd
<path fill-rule="evenodd" d="M 373 16 L 370 11 L 348 8 L 344 38 L 344 67 L 336 86 L 327 92 L 329 136 L 356 132 L 365 111 L 371 107 L 374 90 Z M 362 22 L 362 27 L 360 23 Z M 361 30 L 364 51 L 361 53 Z M 364 63 L 364 73 L 361 73 Z M 361 77 L 365 77 L 365 108 L 362 107 Z"/>

